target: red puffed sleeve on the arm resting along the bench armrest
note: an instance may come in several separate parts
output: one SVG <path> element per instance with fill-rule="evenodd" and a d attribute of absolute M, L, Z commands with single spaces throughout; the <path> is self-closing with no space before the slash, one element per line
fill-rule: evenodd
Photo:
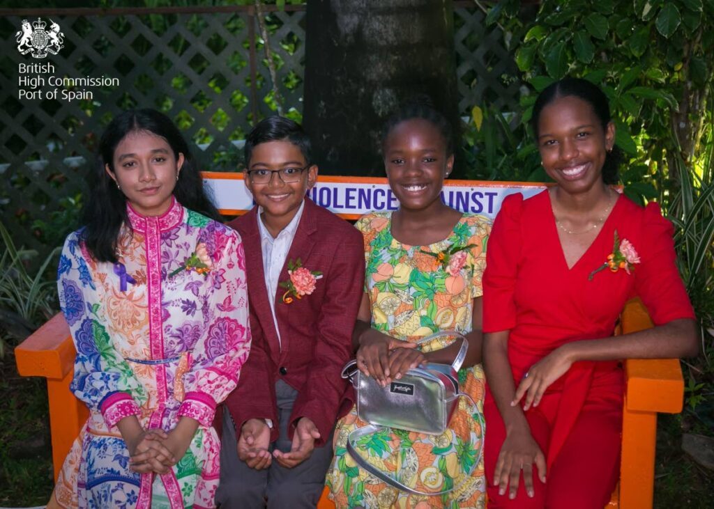
<path fill-rule="evenodd" d="M 644 214 L 640 265 L 635 266 L 635 293 L 655 325 L 695 318 L 677 269 L 672 223 L 662 217 L 660 206 L 654 202 L 645 207 Z"/>

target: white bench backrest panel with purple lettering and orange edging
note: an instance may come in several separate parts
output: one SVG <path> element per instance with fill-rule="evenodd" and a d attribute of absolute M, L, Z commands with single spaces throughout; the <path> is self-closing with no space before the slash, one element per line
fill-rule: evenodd
<path fill-rule="evenodd" d="M 204 172 L 203 182 L 223 214 L 240 215 L 253 207 L 253 197 L 243 183 L 242 173 Z M 543 184 L 527 182 L 446 180 L 441 196 L 446 205 L 456 210 L 493 218 L 506 196 L 521 192 L 524 197 L 531 197 L 543 189 Z M 308 196 L 346 219 L 399 207 L 386 178 L 321 176 Z"/>

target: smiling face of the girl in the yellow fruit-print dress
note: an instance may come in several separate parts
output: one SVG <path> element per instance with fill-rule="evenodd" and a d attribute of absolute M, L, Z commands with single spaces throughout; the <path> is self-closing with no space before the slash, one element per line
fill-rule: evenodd
<path fill-rule="evenodd" d="M 412 118 L 389 132 L 384 167 L 401 207 L 424 210 L 441 204 L 441 188 L 453 168 L 453 155 L 446 154 L 446 140 L 435 125 Z"/>

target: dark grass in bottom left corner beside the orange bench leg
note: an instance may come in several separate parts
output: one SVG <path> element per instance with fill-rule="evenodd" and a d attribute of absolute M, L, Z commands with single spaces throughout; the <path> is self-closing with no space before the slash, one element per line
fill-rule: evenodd
<path fill-rule="evenodd" d="M 0 506 L 42 505 L 52 487 L 46 383 L 21 378 L 6 351 L 0 359 Z"/>

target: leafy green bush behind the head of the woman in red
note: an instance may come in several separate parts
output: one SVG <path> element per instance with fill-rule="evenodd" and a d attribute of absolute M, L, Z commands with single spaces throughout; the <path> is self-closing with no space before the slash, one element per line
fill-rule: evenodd
<path fill-rule="evenodd" d="M 675 160 L 691 167 L 705 150 L 700 141 L 712 115 L 700 111 L 713 100 L 714 1 L 546 0 L 528 21 L 511 4 L 518 2 L 500 2 L 488 19 L 508 34 L 523 81 L 536 93 L 563 76 L 601 86 L 613 109 L 616 143 L 626 156 L 625 192 L 640 202 L 653 197 L 666 202 L 679 178 L 669 168 Z M 526 133 L 534 101 L 535 93 L 521 98 L 523 125 L 513 129 L 516 138 Z M 502 133 L 498 139 L 506 138 Z M 506 160 L 521 163 L 508 155 L 513 146 L 506 146 Z M 513 168 L 518 180 L 535 170 Z"/>

